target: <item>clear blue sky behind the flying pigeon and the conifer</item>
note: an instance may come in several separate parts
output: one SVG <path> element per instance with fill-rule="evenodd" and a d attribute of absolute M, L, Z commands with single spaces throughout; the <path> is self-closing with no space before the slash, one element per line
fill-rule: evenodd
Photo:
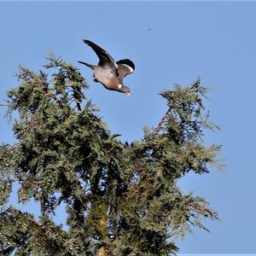
<path fill-rule="evenodd" d="M 195 230 L 179 241 L 180 253 L 256 253 L 256 3 L 253 2 L 56 2 L 0 3 L 0 101 L 17 85 L 14 73 L 25 65 L 37 71 L 49 49 L 80 68 L 90 84 L 86 94 L 122 140 L 143 137 L 143 126 L 158 124 L 166 102 L 158 95 L 172 84 L 201 76 L 211 87 L 206 106 L 222 127 L 207 132 L 206 143 L 221 143 L 224 172 L 179 181 L 211 202 L 220 221 L 207 221 L 212 233 Z M 113 55 L 130 58 L 135 73 L 125 78 L 131 96 L 104 90 L 90 69 L 96 63 L 90 39 Z M 14 143 L 0 108 L 0 142 Z M 13 196 L 12 201 L 16 201 Z M 22 210 L 37 213 L 33 203 Z M 63 207 L 55 217 L 63 218 Z"/>

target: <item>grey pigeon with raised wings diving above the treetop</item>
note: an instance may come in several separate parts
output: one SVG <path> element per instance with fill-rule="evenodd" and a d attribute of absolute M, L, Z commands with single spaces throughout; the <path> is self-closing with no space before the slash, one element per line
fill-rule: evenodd
<path fill-rule="evenodd" d="M 105 49 L 89 40 L 83 41 L 96 52 L 100 60 L 97 66 L 79 61 L 93 70 L 94 81 L 103 84 L 108 90 L 117 90 L 130 96 L 130 88 L 123 84 L 123 79 L 126 75 L 133 73 L 134 63 L 128 59 L 115 62 Z"/>

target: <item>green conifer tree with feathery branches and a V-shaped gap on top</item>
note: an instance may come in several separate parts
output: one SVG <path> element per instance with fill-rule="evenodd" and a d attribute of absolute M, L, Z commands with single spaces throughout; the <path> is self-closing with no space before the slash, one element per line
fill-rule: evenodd
<path fill-rule="evenodd" d="M 178 237 L 202 218 L 218 218 L 201 197 L 184 195 L 177 179 L 203 174 L 219 146 L 206 147 L 208 121 L 198 79 L 160 93 L 167 112 L 141 141 L 111 134 L 86 99 L 85 79 L 73 65 L 49 55 L 46 71 L 20 67 L 8 91 L 16 143 L 0 148 L 1 255 L 170 255 Z M 40 218 L 9 204 L 19 183 L 20 203 L 31 198 Z M 54 223 L 64 202 L 67 229 Z"/>

